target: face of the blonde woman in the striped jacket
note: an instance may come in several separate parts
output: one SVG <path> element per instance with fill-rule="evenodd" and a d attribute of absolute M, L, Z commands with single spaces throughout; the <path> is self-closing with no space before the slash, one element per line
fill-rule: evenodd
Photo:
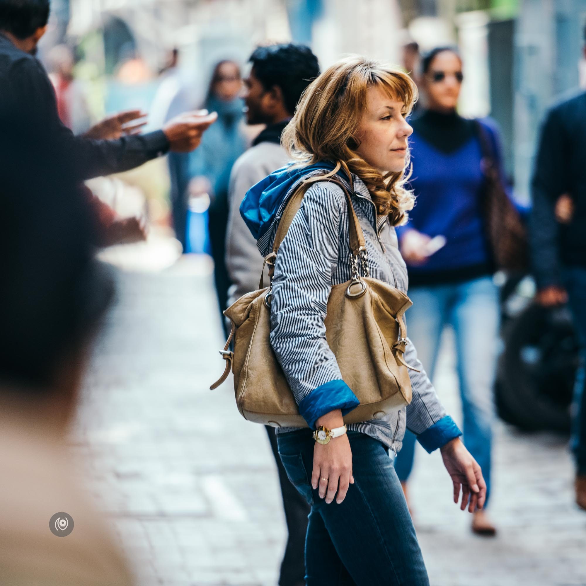
<path fill-rule="evenodd" d="M 389 97 L 377 86 L 366 94 L 366 110 L 356 138 L 360 145 L 356 152 L 370 166 L 381 173 L 403 171 L 407 156 L 407 139 L 413 128 L 404 117 L 405 104 Z"/>

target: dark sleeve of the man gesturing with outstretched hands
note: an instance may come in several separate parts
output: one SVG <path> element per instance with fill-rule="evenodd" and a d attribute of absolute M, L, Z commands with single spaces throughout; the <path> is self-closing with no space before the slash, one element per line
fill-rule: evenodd
<path fill-rule="evenodd" d="M 163 131 L 113 141 L 74 136 L 59 119 L 53 85 L 37 60 L 17 62 L 12 67 L 11 82 L 23 115 L 43 129 L 54 148 L 70 157 L 79 179 L 128 171 L 169 150 Z"/>

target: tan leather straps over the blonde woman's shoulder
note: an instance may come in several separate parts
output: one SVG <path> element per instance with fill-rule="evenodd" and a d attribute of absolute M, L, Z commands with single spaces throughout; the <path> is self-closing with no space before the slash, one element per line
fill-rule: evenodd
<path fill-rule="evenodd" d="M 346 196 L 346 205 L 348 208 L 348 227 L 349 227 L 349 236 L 350 236 L 350 250 L 352 250 L 352 254 L 355 257 L 359 257 L 362 251 L 366 250 L 366 240 L 364 240 L 364 233 L 362 231 L 362 227 L 360 226 L 360 221 L 358 216 L 356 215 L 356 210 L 354 209 L 354 205 L 352 203 L 352 196 L 350 192 L 346 189 L 346 186 L 338 179 L 336 179 L 333 175 L 335 175 L 342 165 L 340 162 L 336 164 L 336 167 L 333 171 L 326 173 L 325 175 L 316 175 L 315 177 L 310 177 L 309 179 L 305 179 L 298 189 L 295 190 L 295 193 L 291 197 L 289 197 L 289 201 L 285 206 L 285 209 L 281 215 L 281 220 L 279 222 L 279 226 L 277 228 L 277 233 L 275 234 L 275 240 L 272 244 L 272 252 L 269 254 L 265 260 L 264 265 L 269 266 L 269 277 L 272 280 L 272 274 L 274 272 L 274 261 L 275 257 L 277 257 L 277 251 L 281 246 L 283 240 L 285 240 L 285 236 L 289 231 L 289 227 L 293 222 L 293 219 L 299 208 L 301 208 L 301 202 L 305 196 L 305 192 L 314 184 L 320 181 L 327 180 L 328 182 L 335 183 L 336 185 L 342 188 L 345 196 Z M 350 177 L 350 186 L 352 187 L 352 176 Z M 263 273 L 264 273 L 264 265 L 263 265 Z M 259 289 L 263 288 L 264 279 L 263 273 L 261 273 L 260 277 L 260 284 Z"/>

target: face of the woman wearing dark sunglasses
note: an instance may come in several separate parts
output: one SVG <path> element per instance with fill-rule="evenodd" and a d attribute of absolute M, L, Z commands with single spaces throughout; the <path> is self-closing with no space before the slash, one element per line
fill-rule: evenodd
<path fill-rule="evenodd" d="M 433 110 L 455 110 L 462 79 L 460 58 L 451 51 L 438 53 L 424 75 L 429 107 Z"/>

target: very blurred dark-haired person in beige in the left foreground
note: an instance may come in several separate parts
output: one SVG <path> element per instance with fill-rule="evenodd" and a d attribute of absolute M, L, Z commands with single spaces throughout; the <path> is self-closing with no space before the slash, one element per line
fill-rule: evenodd
<path fill-rule="evenodd" d="M 26 116 L 2 121 L 0 584 L 130 586 L 120 546 L 67 449 L 113 285 L 94 261 L 101 236 L 70 157 L 53 147 Z M 57 513 L 71 516 L 71 534 L 52 533 Z"/>

